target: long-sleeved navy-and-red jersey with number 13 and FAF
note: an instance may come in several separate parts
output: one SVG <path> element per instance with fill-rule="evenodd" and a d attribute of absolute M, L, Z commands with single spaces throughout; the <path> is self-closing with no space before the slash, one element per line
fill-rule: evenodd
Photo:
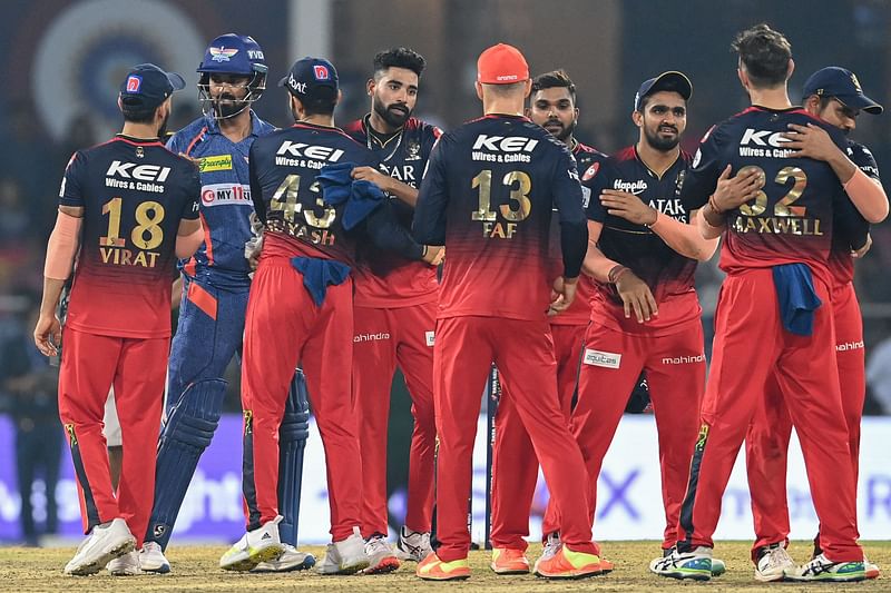
<path fill-rule="evenodd" d="M 414 214 L 420 243 L 446 245 L 439 318 L 544 320 L 556 276 L 549 233 L 561 224 L 564 275 L 587 248 L 575 159 L 525 117 L 490 115 L 442 135 Z"/>

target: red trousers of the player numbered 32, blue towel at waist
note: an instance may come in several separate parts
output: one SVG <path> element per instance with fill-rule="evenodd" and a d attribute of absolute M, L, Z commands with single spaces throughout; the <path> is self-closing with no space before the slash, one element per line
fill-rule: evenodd
<path fill-rule="evenodd" d="M 816 276 L 814 287 L 823 305 L 814 313 L 813 335 L 797 336 L 783 328 L 770 268 L 731 274 L 724 280 L 702 427 L 681 512 L 682 550 L 713 546 L 721 498 L 773 375 L 801 439 L 823 551 L 834 562 L 863 560 L 856 543 L 854 476 L 839 391 L 832 303 L 826 284 Z"/>

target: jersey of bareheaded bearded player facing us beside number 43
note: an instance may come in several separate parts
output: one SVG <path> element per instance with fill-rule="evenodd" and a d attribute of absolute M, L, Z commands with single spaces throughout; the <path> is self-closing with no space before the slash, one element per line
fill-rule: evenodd
<path fill-rule="evenodd" d="M 380 169 L 413 188 L 421 185 L 430 151 L 442 131 L 418 118 L 409 118 L 395 134 L 381 136 L 371 129 L 370 116 L 344 127 L 380 159 Z M 400 225 L 411 229 L 414 208 L 392 198 Z M 437 270 L 424 261 L 407 259 L 393 251 L 363 245 L 354 275 L 354 303 L 360 307 L 407 307 L 437 299 Z"/>

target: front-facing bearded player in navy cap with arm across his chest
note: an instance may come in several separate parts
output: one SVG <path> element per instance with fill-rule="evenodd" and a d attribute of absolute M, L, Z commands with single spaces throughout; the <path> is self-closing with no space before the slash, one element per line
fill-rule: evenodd
<path fill-rule="evenodd" d="M 676 196 L 691 157 L 679 142 L 693 87 L 681 72 L 640 86 L 631 113 L 637 144 L 609 157 L 585 181 L 588 205 L 586 273 L 598 280 L 585 336 L 578 402 L 570 426 L 588 468 L 588 518 L 594 522 L 597 480 L 621 415 L 646 370 L 659 434 L 666 527 L 663 550 L 676 541 L 691 449 L 705 388 L 702 308 L 694 288 L 696 263 L 714 255 Z M 559 516 L 548 506 L 542 531 Z M 549 540 L 550 551 L 554 545 Z"/>

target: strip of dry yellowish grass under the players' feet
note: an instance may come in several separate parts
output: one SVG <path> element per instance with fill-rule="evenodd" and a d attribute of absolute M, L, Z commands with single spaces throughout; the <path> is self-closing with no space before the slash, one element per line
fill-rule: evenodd
<path fill-rule="evenodd" d="M 814 585 L 804 583 L 776 583 L 771 587 L 789 591 L 813 591 L 815 586 L 826 591 L 889 591 L 891 590 L 891 542 L 866 542 L 866 555 L 880 567 L 883 576 L 877 581 L 848 585 Z M 647 570 L 649 561 L 659 553 L 656 542 L 606 542 L 604 555 L 615 562 L 616 570 L 608 575 L 581 581 L 545 581 L 535 576 L 496 576 L 489 570 L 489 554 L 472 552 L 470 580 L 456 583 L 428 583 L 414 576 L 414 564 L 407 563 L 391 574 L 378 576 L 320 576 L 314 571 L 304 573 L 237 574 L 217 567 L 225 546 L 185 546 L 169 550 L 168 559 L 173 572 L 166 575 L 140 575 L 112 577 L 102 572 L 87 577 L 62 574 L 62 566 L 75 553 L 70 548 L 0 547 L 0 589 L 10 592 L 25 591 L 271 591 L 271 590 L 340 590 L 340 591 L 646 591 L 673 590 L 676 587 L 713 587 L 721 591 L 763 590 L 766 585 L 752 576 L 748 561 L 748 543 L 721 542 L 716 556 L 727 563 L 727 573 L 711 583 L 694 584 L 662 579 Z M 306 550 L 323 554 L 321 546 Z M 535 560 L 540 546 L 529 550 Z M 805 560 L 811 552 L 810 542 L 795 542 L 790 552 L 796 561 Z"/>

